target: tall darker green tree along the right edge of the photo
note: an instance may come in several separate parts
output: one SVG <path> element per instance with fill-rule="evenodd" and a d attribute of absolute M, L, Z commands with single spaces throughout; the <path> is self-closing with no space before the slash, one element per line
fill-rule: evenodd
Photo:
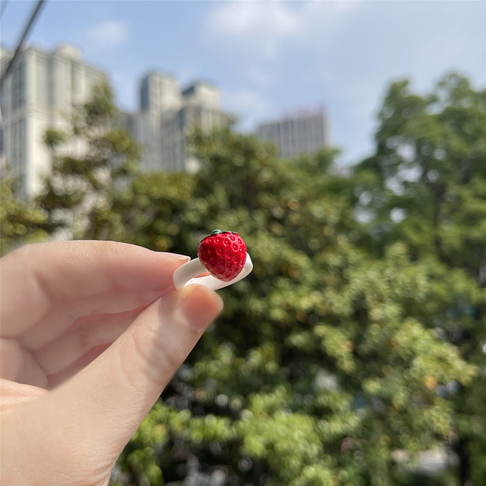
<path fill-rule="evenodd" d="M 433 326 L 464 359 L 485 369 L 486 90 L 445 76 L 430 94 L 393 83 L 379 114 L 376 153 L 355 170 L 369 246 L 383 254 L 406 242 L 448 292 Z M 483 347 L 482 347 L 483 346 Z M 486 482 L 486 380 L 453 396 L 460 484 Z"/>

